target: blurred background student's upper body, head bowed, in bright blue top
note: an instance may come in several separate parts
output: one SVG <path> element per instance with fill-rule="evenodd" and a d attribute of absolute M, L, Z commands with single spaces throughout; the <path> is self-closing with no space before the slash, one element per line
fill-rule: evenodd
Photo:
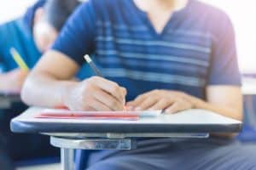
<path fill-rule="evenodd" d="M 32 68 L 78 4 L 76 0 L 40 0 L 20 19 L 0 26 L 0 91 L 19 91 L 27 75 L 18 68 L 10 49 L 15 48 Z"/>

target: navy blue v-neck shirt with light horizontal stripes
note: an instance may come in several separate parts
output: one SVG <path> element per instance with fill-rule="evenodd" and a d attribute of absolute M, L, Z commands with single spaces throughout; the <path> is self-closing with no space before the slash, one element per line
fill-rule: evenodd
<path fill-rule="evenodd" d="M 195 0 L 172 14 L 161 33 L 132 0 L 88 0 L 52 49 L 79 65 L 84 54 L 94 56 L 104 77 L 127 88 L 127 100 L 152 89 L 205 99 L 207 86 L 241 85 L 230 19 Z"/>

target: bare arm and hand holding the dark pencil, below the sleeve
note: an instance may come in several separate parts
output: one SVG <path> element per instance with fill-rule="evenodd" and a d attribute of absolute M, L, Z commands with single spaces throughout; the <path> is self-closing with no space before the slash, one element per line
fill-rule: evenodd
<path fill-rule="evenodd" d="M 54 62 L 57 61 L 57 62 Z M 63 66 L 65 65 L 65 66 Z M 28 105 L 67 106 L 81 111 L 121 111 L 125 88 L 101 77 L 73 82 L 79 65 L 66 55 L 50 50 L 26 79 L 21 98 Z"/>

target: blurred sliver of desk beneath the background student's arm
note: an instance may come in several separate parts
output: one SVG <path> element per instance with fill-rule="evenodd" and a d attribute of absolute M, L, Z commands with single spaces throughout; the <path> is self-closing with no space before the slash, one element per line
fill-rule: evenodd
<path fill-rule="evenodd" d="M 20 101 L 20 94 L 0 92 L 0 110 L 9 109 L 14 103 Z"/>

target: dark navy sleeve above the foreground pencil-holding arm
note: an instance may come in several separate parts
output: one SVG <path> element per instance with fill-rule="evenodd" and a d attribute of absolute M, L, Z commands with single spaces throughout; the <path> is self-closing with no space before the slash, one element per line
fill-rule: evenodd
<path fill-rule="evenodd" d="M 67 20 L 52 49 L 66 54 L 79 65 L 83 65 L 84 54 L 92 54 L 94 51 L 95 26 L 96 16 L 93 5 L 88 1 Z"/>

